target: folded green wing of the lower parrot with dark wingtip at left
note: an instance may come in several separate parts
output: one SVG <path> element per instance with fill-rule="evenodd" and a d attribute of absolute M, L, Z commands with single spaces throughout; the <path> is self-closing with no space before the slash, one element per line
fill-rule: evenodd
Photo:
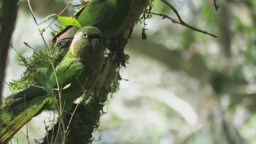
<path fill-rule="evenodd" d="M 84 81 L 86 77 L 90 75 L 91 72 L 92 69 L 89 66 L 84 65 L 74 56 L 72 56 L 70 51 L 68 51 L 68 53 L 63 58 L 62 62 L 60 62 L 60 64 L 56 67 L 56 76 L 59 85 L 63 88 L 68 84 L 71 84 L 69 88 L 65 89 L 65 91 L 76 89 L 78 86 L 80 86 L 78 80 L 80 80 L 81 82 Z M 52 81 L 54 88 L 57 88 L 54 73 L 50 75 L 50 80 Z M 37 83 L 36 86 L 42 86 L 42 84 Z M 24 96 L 27 100 L 29 100 L 37 96 L 45 95 L 47 95 L 47 93 L 44 89 L 32 86 L 26 90 L 8 96 L 6 100 L 12 98 L 24 98 Z"/>

